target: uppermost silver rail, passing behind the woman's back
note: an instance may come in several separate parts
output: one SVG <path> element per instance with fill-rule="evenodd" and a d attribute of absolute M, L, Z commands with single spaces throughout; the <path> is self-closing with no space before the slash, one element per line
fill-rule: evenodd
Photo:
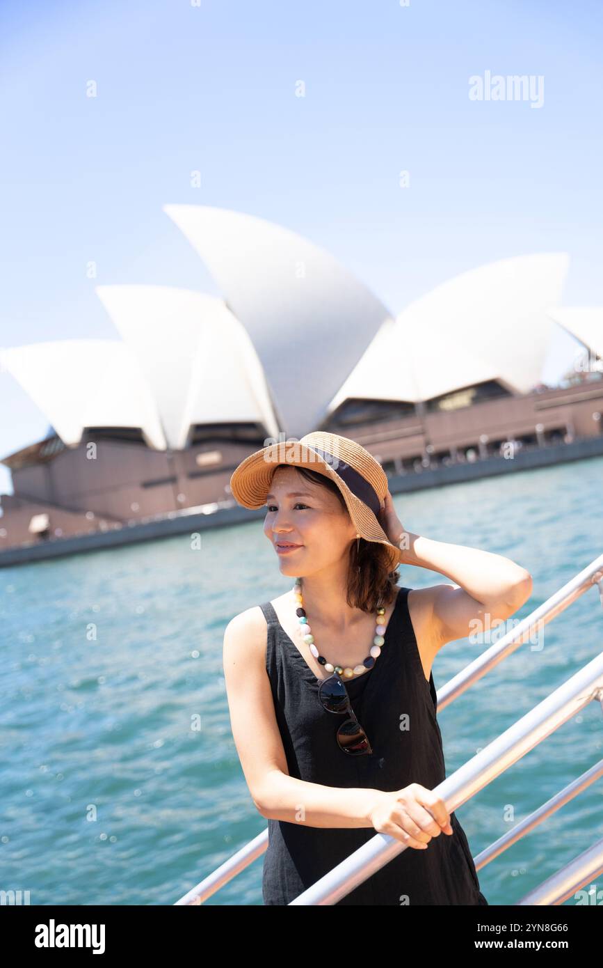
<path fill-rule="evenodd" d="M 462 695 L 475 681 L 485 676 L 487 672 L 490 672 L 499 662 L 502 662 L 502 659 L 518 649 L 524 642 L 530 641 L 534 628 L 540 628 L 542 623 L 554 619 L 594 584 L 598 584 L 603 605 L 603 555 L 593 560 L 546 602 L 543 602 L 539 608 L 535 609 L 531 615 L 519 622 L 499 642 L 483 652 L 474 662 L 465 666 L 457 676 L 446 682 L 445 686 L 438 691 L 438 711 L 442 711 L 448 703 Z M 200 881 L 175 904 L 203 903 L 237 874 L 240 874 L 248 864 L 264 854 L 267 849 L 268 828 L 260 832 L 248 844 L 245 844 L 231 858 L 220 864 L 212 874 Z"/>

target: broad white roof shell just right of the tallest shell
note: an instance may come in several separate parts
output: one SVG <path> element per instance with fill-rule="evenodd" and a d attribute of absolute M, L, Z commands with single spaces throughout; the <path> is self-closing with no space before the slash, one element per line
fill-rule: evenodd
<path fill-rule="evenodd" d="M 330 402 L 416 402 L 498 379 L 525 393 L 540 380 L 565 254 L 505 258 L 464 272 L 385 325 Z"/>

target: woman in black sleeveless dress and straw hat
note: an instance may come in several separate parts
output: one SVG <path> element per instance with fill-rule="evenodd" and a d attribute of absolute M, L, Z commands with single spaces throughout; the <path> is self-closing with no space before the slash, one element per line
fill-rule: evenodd
<path fill-rule="evenodd" d="M 487 904 L 445 779 L 433 660 L 474 622 L 505 620 L 531 576 L 489 552 L 405 531 L 388 478 L 355 441 L 316 432 L 249 455 L 231 490 L 266 505 L 292 590 L 231 620 L 233 737 L 268 819 L 263 898 L 295 897 L 375 832 L 409 848 L 338 904 Z M 454 585 L 397 588 L 399 563 Z"/>

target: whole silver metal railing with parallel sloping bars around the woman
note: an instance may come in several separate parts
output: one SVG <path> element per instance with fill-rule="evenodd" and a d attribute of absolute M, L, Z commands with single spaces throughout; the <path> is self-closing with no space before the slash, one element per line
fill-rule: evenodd
<path fill-rule="evenodd" d="M 499 642 L 483 652 L 457 676 L 448 681 L 438 692 L 438 711 L 457 699 L 475 681 L 485 676 L 502 659 L 527 641 L 531 641 L 534 630 L 539 630 L 548 621 L 560 615 L 585 591 L 597 585 L 603 605 L 603 555 L 592 561 L 559 591 L 555 592 L 528 618 L 520 621 L 515 628 L 504 635 Z M 545 700 L 519 719 L 500 737 L 492 741 L 464 764 L 459 770 L 434 788 L 445 801 L 448 812 L 452 812 L 468 801 L 493 779 L 525 756 L 534 746 L 546 739 L 551 733 L 570 719 L 576 712 L 587 706 L 593 699 L 601 702 L 603 710 L 603 651 L 588 665 L 584 666 L 571 679 L 565 681 Z M 600 761 L 581 777 L 560 791 L 556 797 L 544 803 L 521 824 L 506 833 L 475 860 L 475 868 L 498 857 L 520 837 L 569 802 L 590 783 L 603 773 Z M 177 905 L 201 904 L 219 888 L 227 884 L 236 874 L 260 857 L 268 848 L 268 829 L 259 833 L 253 840 L 237 851 L 228 861 L 222 863 L 212 874 L 204 878 L 196 887 L 176 901 Z M 325 877 L 302 892 L 292 905 L 298 904 L 335 904 L 341 897 L 353 891 L 359 884 L 377 870 L 407 849 L 406 844 L 388 834 L 376 833 L 359 850 L 345 861 L 337 864 Z M 588 883 L 589 877 L 603 871 L 603 841 L 594 844 L 585 854 L 570 862 L 543 885 L 527 894 L 519 904 L 559 904 L 573 891 Z M 598 864 L 602 866 L 599 868 Z M 587 880 L 584 880 L 584 877 Z M 527 900 L 526 898 L 531 898 Z"/>

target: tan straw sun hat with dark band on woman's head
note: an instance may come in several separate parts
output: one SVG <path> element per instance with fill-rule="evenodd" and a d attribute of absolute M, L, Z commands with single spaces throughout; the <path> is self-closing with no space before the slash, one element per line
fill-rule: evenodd
<path fill-rule="evenodd" d="M 388 540 L 377 514 L 388 493 L 388 476 L 372 454 L 355 440 L 315 431 L 300 440 L 281 440 L 249 454 L 230 478 L 234 499 L 244 507 L 263 507 L 278 464 L 316 470 L 335 482 L 361 538 L 383 544 L 393 571 L 402 552 Z"/>

